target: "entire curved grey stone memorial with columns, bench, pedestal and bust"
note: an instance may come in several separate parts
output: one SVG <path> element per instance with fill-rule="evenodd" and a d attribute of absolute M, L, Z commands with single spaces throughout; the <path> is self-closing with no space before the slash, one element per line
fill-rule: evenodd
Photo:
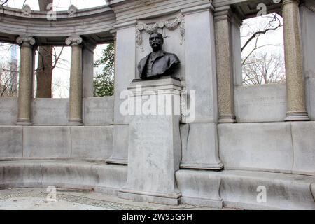
<path fill-rule="evenodd" d="M 107 2 L 51 21 L 2 6 L 0 41 L 18 43 L 21 60 L 18 97 L 0 98 L 1 189 L 315 209 L 313 0 Z M 241 24 L 261 4 L 283 18 L 286 83 L 244 86 Z M 114 95 L 93 97 L 104 43 L 115 45 Z M 69 99 L 34 98 L 40 45 L 71 46 Z"/>

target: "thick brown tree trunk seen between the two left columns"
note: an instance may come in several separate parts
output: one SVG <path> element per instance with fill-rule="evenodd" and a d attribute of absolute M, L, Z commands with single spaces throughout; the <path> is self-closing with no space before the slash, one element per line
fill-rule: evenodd
<path fill-rule="evenodd" d="M 39 10 L 46 11 L 48 4 L 53 0 L 38 0 Z M 52 46 L 38 48 L 38 68 L 36 69 L 37 78 L 37 98 L 52 97 Z"/>

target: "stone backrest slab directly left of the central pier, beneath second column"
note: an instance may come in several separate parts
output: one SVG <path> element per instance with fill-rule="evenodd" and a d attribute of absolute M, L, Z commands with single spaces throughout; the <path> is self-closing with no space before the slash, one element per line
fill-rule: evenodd
<path fill-rule="evenodd" d="M 113 151 L 113 126 L 71 127 L 71 158 L 109 158 Z"/>

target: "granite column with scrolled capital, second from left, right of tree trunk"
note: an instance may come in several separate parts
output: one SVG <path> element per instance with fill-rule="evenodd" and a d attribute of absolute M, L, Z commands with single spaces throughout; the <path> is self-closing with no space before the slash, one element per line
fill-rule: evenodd
<path fill-rule="evenodd" d="M 66 44 L 71 45 L 71 73 L 69 94 L 69 125 L 83 125 L 82 120 L 82 38 L 70 36 Z"/>

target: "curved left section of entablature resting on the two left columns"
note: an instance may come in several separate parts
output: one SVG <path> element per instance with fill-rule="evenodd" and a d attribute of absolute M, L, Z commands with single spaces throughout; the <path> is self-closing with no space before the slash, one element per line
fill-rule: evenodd
<path fill-rule="evenodd" d="M 67 11 L 56 12 L 55 20 L 47 13 L 31 11 L 25 17 L 22 10 L 3 7 L 0 13 L 0 41 L 15 41 L 16 36 L 34 36 L 38 45 L 64 45 L 68 36 L 83 35 L 95 43 L 113 39 L 110 31 L 116 24 L 116 15 L 108 6 L 77 10 L 69 17 Z"/>

